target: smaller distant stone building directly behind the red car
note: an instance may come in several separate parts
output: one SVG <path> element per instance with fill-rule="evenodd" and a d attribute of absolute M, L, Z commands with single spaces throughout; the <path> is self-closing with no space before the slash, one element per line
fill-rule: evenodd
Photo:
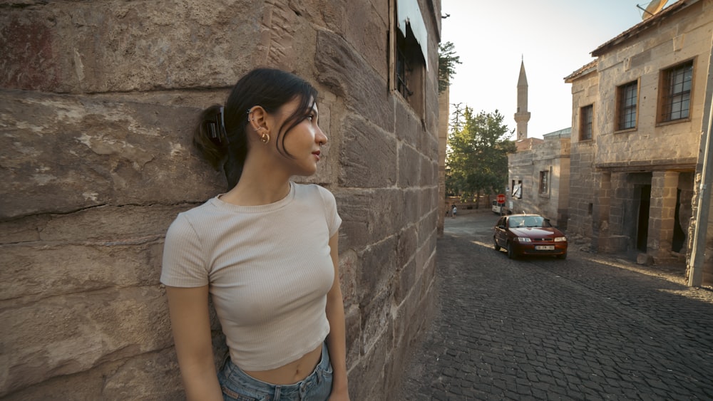
<path fill-rule="evenodd" d="M 508 177 L 506 207 L 511 212 L 542 214 L 567 228 L 570 128 L 545 134 L 535 145 L 508 155 Z"/>

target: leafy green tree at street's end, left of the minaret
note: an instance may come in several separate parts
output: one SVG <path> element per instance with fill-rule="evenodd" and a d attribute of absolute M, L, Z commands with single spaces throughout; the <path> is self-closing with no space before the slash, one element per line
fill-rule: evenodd
<path fill-rule="evenodd" d="M 498 110 L 474 115 L 471 108 L 461 110 L 458 105 L 453 115 L 446 150 L 446 192 L 462 199 L 503 192 L 508 182 L 508 153 L 516 150 L 510 140 L 514 130 L 503 124 Z"/>

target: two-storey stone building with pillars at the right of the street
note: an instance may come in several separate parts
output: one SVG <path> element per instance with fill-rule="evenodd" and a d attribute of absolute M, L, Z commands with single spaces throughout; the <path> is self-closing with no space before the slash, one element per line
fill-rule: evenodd
<path fill-rule="evenodd" d="M 605 252 L 683 259 L 713 1 L 677 1 L 592 52 L 565 78 L 573 120 L 568 232 Z"/>

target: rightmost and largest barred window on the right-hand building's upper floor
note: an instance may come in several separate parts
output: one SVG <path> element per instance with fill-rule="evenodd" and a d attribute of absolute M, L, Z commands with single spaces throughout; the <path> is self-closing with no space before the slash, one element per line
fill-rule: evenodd
<path fill-rule="evenodd" d="M 693 61 L 661 72 L 659 123 L 688 118 L 691 107 Z"/>

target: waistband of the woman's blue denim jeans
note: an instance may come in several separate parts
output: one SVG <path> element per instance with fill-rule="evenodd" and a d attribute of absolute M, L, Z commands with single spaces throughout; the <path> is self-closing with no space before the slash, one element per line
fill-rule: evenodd
<path fill-rule="evenodd" d="M 225 379 L 240 385 L 245 390 L 250 392 L 256 392 L 260 394 L 268 394 L 267 400 L 279 400 L 281 397 L 284 398 L 294 398 L 302 399 L 304 393 L 314 385 L 318 385 L 322 380 L 324 380 L 324 373 L 331 370 L 331 365 L 329 364 L 329 351 L 327 350 L 327 343 L 322 343 L 322 358 L 319 363 L 314 368 L 309 376 L 304 377 L 303 380 L 296 382 L 291 385 L 275 385 L 268 382 L 263 382 L 262 380 L 257 380 L 245 373 L 240 367 L 232 363 L 230 359 L 227 360 L 225 366 L 222 369 L 222 375 Z"/>

